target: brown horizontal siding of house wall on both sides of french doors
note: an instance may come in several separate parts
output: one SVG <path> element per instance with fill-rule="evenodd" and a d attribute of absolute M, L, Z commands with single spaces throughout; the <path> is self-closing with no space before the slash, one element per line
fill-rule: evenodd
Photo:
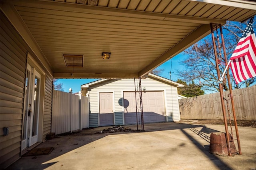
<path fill-rule="evenodd" d="M 35 56 L 2 11 L 0 15 L 0 166 L 5 168 L 21 155 L 27 52 Z M 46 73 L 43 140 L 51 126 L 52 81 Z M 3 136 L 4 127 L 9 127 L 7 136 Z"/>

